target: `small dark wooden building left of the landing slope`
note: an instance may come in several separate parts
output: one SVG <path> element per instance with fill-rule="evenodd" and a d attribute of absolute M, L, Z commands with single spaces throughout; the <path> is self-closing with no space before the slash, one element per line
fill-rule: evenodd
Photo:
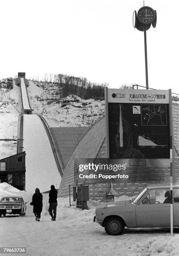
<path fill-rule="evenodd" d="M 0 159 L 0 183 L 25 190 L 26 152 Z"/>

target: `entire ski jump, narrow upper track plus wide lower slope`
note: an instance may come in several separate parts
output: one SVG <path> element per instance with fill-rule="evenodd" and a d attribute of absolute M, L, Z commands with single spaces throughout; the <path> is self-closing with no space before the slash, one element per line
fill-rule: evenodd
<path fill-rule="evenodd" d="M 63 165 L 56 143 L 43 117 L 32 115 L 28 92 L 23 78 L 18 78 L 24 114 L 18 119 L 17 153 L 26 151 L 26 191 L 34 193 L 59 187 Z"/>

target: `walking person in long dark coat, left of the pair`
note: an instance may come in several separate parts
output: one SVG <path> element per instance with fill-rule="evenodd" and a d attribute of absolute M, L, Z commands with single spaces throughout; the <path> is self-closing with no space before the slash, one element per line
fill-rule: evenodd
<path fill-rule="evenodd" d="M 40 218 L 41 218 L 41 212 L 43 207 L 42 200 L 43 200 L 43 195 L 40 193 L 40 190 L 37 187 L 35 190 L 35 194 L 33 194 L 33 197 L 32 197 L 33 213 L 36 216 L 37 221 L 40 221 Z"/>

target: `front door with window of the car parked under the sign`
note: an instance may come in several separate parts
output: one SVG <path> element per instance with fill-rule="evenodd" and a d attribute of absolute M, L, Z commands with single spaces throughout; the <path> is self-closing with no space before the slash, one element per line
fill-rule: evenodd
<path fill-rule="evenodd" d="M 151 189 L 136 206 L 137 227 L 169 226 L 170 203 L 166 202 L 169 189 Z"/>

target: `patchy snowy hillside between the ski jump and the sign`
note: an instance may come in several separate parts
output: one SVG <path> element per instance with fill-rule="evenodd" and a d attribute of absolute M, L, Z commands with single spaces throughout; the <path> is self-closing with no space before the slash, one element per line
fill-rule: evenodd
<path fill-rule="evenodd" d="M 38 85 L 40 87 L 29 81 L 27 90 L 30 105 L 34 109 L 33 114 L 43 115 L 50 127 L 88 126 L 105 112 L 104 100 L 83 100 L 76 95 L 60 98 L 59 94 L 56 95 L 57 85 Z M 65 101 L 66 106 L 62 107 Z M 82 106 L 82 103 L 87 105 Z"/>

